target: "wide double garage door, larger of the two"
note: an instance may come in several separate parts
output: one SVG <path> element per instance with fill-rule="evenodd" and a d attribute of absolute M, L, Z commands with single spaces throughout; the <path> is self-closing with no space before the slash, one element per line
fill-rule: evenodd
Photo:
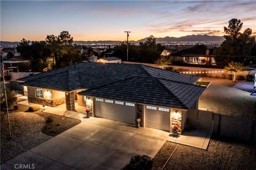
<path fill-rule="evenodd" d="M 97 117 L 135 124 L 135 104 L 112 99 L 94 99 L 94 113 Z"/>

